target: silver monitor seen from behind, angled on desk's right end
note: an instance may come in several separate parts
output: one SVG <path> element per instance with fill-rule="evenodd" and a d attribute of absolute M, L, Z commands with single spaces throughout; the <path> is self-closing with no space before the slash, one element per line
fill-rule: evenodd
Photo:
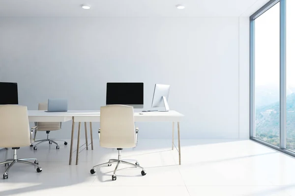
<path fill-rule="evenodd" d="M 151 107 L 165 107 L 164 111 L 165 112 L 169 111 L 169 105 L 168 105 L 169 91 L 170 91 L 170 85 L 155 84 Z"/>

